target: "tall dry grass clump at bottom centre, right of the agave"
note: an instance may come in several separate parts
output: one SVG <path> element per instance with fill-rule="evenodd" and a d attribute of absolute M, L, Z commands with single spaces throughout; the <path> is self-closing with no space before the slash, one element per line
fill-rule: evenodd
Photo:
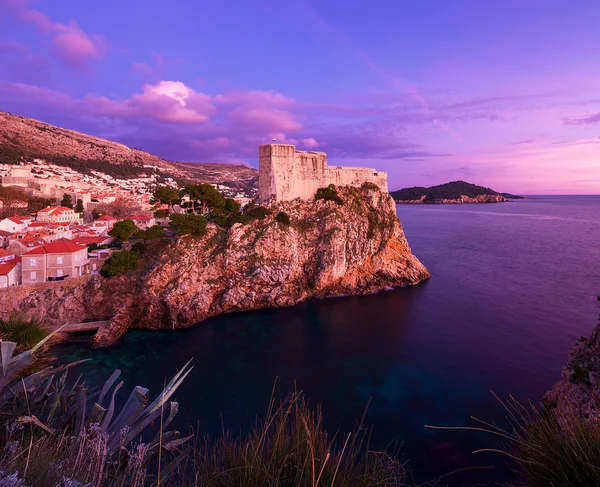
<path fill-rule="evenodd" d="M 331 438 L 320 408 L 301 393 L 276 406 L 245 438 L 200 440 L 190 451 L 178 486 L 377 487 L 404 485 L 406 470 L 395 452 L 369 448 L 369 432 Z"/>

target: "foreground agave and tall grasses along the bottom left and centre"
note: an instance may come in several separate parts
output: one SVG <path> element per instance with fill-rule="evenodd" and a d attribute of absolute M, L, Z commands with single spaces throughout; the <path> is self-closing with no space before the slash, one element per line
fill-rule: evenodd
<path fill-rule="evenodd" d="M 321 411 L 301 392 L 277 404 L 244 437 L 200 434 L 179 438 L 167 428 L 178 411 L 171 401 L 191 368 L 186 364 L 150 402 L 135 387 L 120 411 L 123 386 L 115 371 L 90 394 L 67 373 L 76 363 L 20 376 L 48 337 L 12 357 L 1 342 L 0 485 L 13 486 L 400 486 L 404 465 L 394 452 L 369 448 L 368 430 L 330 437 Z M 3 483 L 4 482 L 4 483 Z"/>

